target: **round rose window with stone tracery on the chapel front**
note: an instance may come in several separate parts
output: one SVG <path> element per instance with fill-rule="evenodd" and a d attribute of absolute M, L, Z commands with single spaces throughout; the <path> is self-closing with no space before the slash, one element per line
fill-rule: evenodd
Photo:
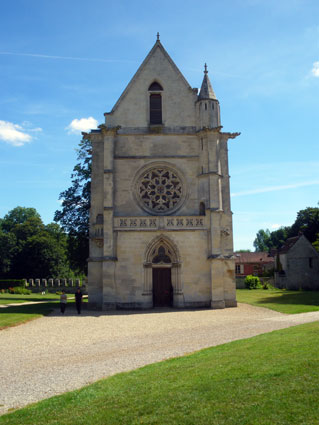
<path fill-rule="evenodd" d="M 144 172 L 138 179 L 137 192 L 142 207 L 157 214 L 175 210 L 184 197 L 180 177 L 167 167 Z"/>

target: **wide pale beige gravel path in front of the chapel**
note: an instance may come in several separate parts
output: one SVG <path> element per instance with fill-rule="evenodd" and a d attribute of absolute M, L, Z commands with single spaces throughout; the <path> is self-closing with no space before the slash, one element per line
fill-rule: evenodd
<path fill-rule="evenodd" d="M 0 413 L 204 347 L 319 320 L 239 304 L 224 310 L 71 308 L 0 332 Z"/>

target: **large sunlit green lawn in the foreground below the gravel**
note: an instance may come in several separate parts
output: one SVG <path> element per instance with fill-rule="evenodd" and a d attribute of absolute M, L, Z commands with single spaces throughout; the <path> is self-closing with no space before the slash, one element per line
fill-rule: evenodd
<path fill-rule="evenodd" d="M 37 425 L 314 425 L 319 323 L 122 373 L 0 418 Z"/>

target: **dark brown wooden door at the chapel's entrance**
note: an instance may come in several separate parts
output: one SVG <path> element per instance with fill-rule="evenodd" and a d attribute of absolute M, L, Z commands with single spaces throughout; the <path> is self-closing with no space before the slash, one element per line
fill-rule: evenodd
<path fill-rule="evenodd" d="M 153 268 L 153 305 L 154 307 L 171 307 L 173 305 L 170 268 Z"/>

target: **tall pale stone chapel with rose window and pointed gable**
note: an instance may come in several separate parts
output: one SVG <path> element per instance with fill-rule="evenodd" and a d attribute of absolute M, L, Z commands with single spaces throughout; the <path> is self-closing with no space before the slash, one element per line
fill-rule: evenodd
<path fill-rule="evenodd" d="M 235 307 L 227 141 L 159 37 L 92 142 L 89 304 Z"/>

